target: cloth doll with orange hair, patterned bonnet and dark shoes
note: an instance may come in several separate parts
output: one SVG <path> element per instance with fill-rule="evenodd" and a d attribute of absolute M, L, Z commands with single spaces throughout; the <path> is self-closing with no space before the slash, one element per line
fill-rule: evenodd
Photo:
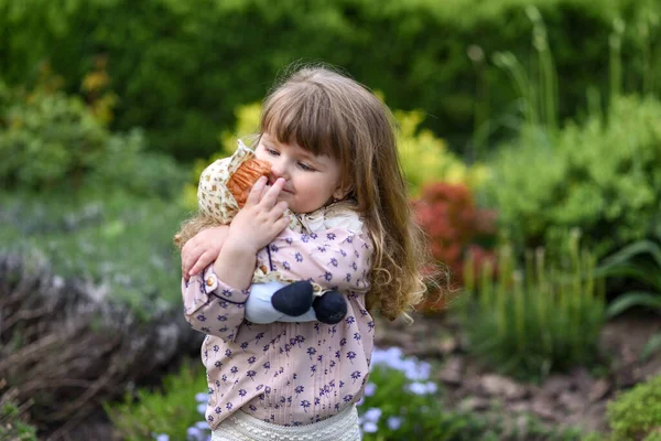
<path fill-rule="evenodd" d="M 231 157 L 218 160 L 203 171 L 197 191 L 203 216 L 218 225 L 231 222 L 246 203 L 254 182 L 262 175 L 269 176 L 270 164 L 253 157 L 253 151 L 239 140 Z M 291 219 L 289 228 L 296 233 L 313 234 L 314 229 L 329 225 L 327 222 L 304 220 L 289 209 L 285 215 Z M 344 319 L 347 312 L 344 295 L 300 279 L 283 277 L 280 271 L 269 269 L 266 262 L 258 263 L 246 303 L 246 318 L 253 323 L 318 320 L 327 324 Z"/>

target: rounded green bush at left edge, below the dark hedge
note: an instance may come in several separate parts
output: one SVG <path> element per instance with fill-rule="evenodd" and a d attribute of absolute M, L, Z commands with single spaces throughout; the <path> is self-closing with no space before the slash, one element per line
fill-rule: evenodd
<path fill-rule="evenodd" d="M 183 173 L 164 155 L 144 152 L 139 130 L 108 131 L 78 97 L 48 90 L 0 90 L 0 185 L 33 191 L 122 189 L 169 197 Z"/>

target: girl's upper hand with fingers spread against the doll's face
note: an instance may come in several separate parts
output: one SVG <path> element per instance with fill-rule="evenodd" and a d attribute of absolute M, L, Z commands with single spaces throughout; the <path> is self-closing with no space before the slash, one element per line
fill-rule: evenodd
<path fill-rule="evenodd" d="M 279 179 L 271 187 L 267 187 L 268 179 L 260 178 L 250 190 L 243 208 L 237 213 L 229 226 L 227 241 L 240 246 L 253 254 L 266 247 L 290 223 L 284 216 L 286 202 L 278 202 L 284 185 Z"/>

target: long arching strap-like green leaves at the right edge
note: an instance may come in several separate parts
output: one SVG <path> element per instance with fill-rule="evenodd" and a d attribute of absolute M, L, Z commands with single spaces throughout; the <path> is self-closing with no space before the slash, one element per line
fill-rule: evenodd
<path fill-rule="evenodd" d="M 631 308 L 647 308 L 661 314 L 661 246 L 652 240 L 639 240 L 626 246 L 604 260 L 597 275 L 625 278 L 641 284 L 641 290 L 619 294 L 606 310 L 609 318 Z M 650 337 L 641 357 L 648 358 L 661 348 L 661 334 Z"/>

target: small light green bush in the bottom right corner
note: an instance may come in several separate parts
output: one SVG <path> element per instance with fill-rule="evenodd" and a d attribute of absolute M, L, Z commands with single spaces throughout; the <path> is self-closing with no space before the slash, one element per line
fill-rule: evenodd
<path fill-rule="evenodd" d="M 661 434 L 661 376 L 619 394 L 607 417 L 613 440 L 658 441 Z"/>

